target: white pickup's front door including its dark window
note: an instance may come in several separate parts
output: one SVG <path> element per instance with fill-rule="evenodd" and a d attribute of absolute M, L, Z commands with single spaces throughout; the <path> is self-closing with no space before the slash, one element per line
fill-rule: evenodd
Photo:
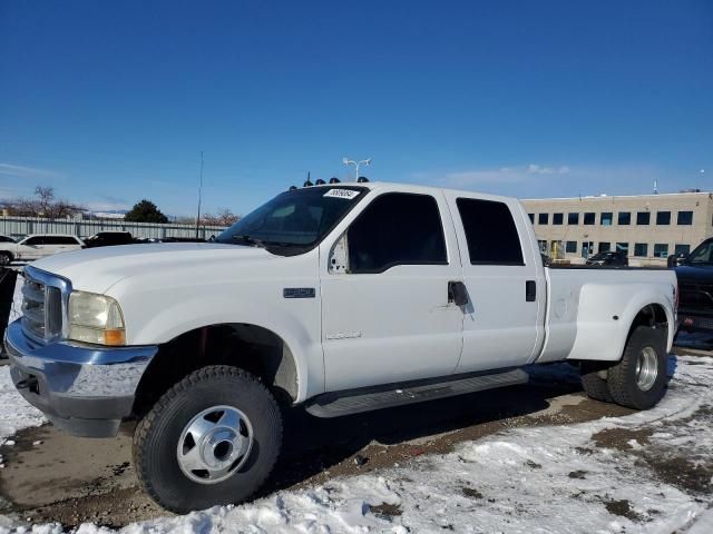
<path fill-rule="evenodd" d="M 385 192 L 323 244 L 326 390 L 452 374 L 463 314 L 449 301 L 460 261 L 442 214 L 442 197 Z"/>

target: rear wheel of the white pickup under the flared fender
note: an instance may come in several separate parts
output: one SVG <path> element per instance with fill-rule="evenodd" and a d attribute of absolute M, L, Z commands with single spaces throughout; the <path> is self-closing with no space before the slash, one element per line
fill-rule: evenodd
<path fill-rule="evenodd" d="M 648 409 L 666 389 L 666 329 L 637 326 L 618 364 L 609 367 L 607 385 L 616 404 Z"/>

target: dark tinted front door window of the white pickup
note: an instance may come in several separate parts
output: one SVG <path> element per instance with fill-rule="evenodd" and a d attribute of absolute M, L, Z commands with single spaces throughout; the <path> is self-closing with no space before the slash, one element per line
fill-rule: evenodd
<path fill-rule="evenodd" d="M 438 204 L 428 195 L 381 195 L 352 222 L 346 236 L 350 273 L 448 264 Z"/>

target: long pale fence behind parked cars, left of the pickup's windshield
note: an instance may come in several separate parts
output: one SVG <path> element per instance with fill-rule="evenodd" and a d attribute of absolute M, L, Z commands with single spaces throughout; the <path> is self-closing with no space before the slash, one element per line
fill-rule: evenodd
<path fill-rule="evenodd" d="M 225 228 L 221 226 L 201 226 L 198 237 L 207 239 Z M 23 237 L 29 234 L 71 234 L 89 237 L 98 231 L 130 231 L 134 237 L 157 238 L 195 237 L 194 225 L 127 222 L 121 219 L 45 219 L 41 217 L 0 217 L 0 234 Z"/>

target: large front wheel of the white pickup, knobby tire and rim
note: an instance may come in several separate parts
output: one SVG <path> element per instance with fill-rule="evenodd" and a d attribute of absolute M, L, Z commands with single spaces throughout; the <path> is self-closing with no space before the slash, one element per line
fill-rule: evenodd
<path fill-rule="evenodd" d="M 176 513 L 247 500 L 282 446 L 282 416 L 250 373 L 204 367 L 166 392 L 134 434 L 134 464 L 146 493 Z"/>

